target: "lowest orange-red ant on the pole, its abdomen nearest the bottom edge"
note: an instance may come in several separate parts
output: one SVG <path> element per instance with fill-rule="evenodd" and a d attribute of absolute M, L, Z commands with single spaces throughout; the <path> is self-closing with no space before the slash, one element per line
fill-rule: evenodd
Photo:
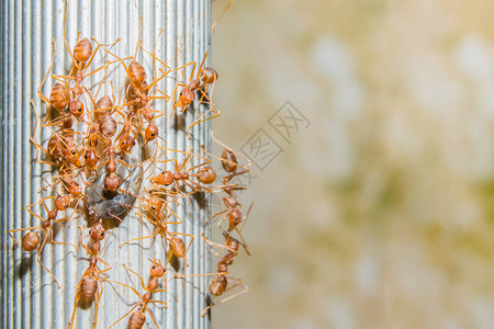
<path fill-rule="evenodd" d="M 151 260 L 149 259 L 149 261 L 151 261 Z M 157 259 L 154 259 L 151 262 L 153 262 L 153 265 L 151 265 L 151 269 L 150 269 L 151 277 L 149 279 L 147 285 L 144 285 L 143 276 L 141 276 L 139 274 L 137 274 L 136 272 L 132 271 L 131 269 L 128 269 L 127 266 L 124 265 L 125 270 L 134 273 L 135 275 L 137 275 L 139 277 L 141 285 L 142 285 L 143 290 L 146 291 L 146 293 L 144 293 L 143 295 L 141 295 L 135 288 L 133 288 L 130 285 L 126 285 L 126 284 L 117 282 L 117 281 L 113 281 L 113 280 L 106 280 L 109 282 L 113 282 L 113 283 L 123 285 L 123 286 L 132 290 L 142 299 L 133 308 L 131 308 L 131 310 L 127 311 L 123 317 L 121 317 L 113 325 L 111 325 L 109 327 L 109 329 L 112 328 L 113 326 L 115 326 L 117 322 L 120 322 L 123 318 L 125 318 L 135 308 L 137 308 L 139 306 L 141 307 L 138 309 L 136 309 L 134 313 L 132 313 L 131 317 L 128 318 L 127 328 L 128 329 L 143 328 L 144 322 L 146 321 L 146 315 L 145 315 L 146 311 L 151 317 L 153 322 L 155 322 L 156 328 L 159 328 L 158 324 L 156 322 L 155 316 L 153 315 L 153 313 L 150 311 L 150 309 L 148 307 L 148 304 L 149 303 L 157 303 L 157 304 L 162 304 L 164 307 L 167 307 L 167 303 L 166 302 L 151 299 L 151 294 L 153 293 L 160 293 L 160 292 L 166 292 L 167 291 L 167 282 L 166 282 L 166 279 L 165 279 L 165 273 L 166 273 L 167 269 L 164 265 L 161 265 L 161 262 L 159 260 L 157 260 Z M 165 288 L 158 290 L 157 287 L 159 285 L 159 279 L 161 279 L 161 277 L 162 277 L 162 281 L 165 283 Z"/>

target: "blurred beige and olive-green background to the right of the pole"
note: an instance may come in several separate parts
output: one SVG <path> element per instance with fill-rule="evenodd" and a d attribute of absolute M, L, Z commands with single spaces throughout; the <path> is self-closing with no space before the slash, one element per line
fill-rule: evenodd
<path fill-rule="evenodd" d="M 231 273 L 250 291 L 213 328 L 494 328 L 493 13 L 234 2 L 213 129 L 238 150 L 263 128 L 283 151 L 239 195 L 252 256 Z M 285 101 L 311 122 L 290 141 L 268 122 Z"/>

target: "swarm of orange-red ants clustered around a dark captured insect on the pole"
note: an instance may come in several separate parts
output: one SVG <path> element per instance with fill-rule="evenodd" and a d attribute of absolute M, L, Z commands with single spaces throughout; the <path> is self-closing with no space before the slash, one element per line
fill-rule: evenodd
<path fill-rule="evenodd" d="M 64 38 L 71 59 L 71 68 L 65 75 L 52 71 L 57 50 L 54 39 L 50 67 L 38 87 L 38 95 L 45 104 L 43 110 L 46 114 L 36 120 L 31 137 L 31 143 L 36 149 L 36 161 L 49 167 L 52 172 L 50 178 L 45 179 L 45 186 L 40 190 L 40 202 L 25 206 L 34 223 L 38 222 L 40 225 L 13 228 L 9 235 L 14 245 L 19 243 L 18 234 L 22 236 L 20 238 L 22 249 L 25 252 L 35 252 L 36 261 L 50 274 L 58 288 L 61 285 L 57 277 L 43 263 L 42 251 L 46 243 L 71 246 L 76 250 L 81 247 L 86 252 L 89 264 L 77 286 L 68 328 L 75 325 L 79 302 L 91 300 L 94 302 L 94 318 L 91 325 L 97 328 L 99 300 L 104 293 L 103 287 L 109 284 L 131 290 L 137 299 L 135 306 L 116 319 L 111 327 L 128 318 L 127 328 L 142 328 L 146 317 L 149 316 L 156 328 L 159 328 L 148 305 L 155 303 L 162 307 L 167 306 L 159 294 L 167 290 L 165 275 L 167 271 L 173 273 L 173 280 L 205 275 L 212 277 L 209 285 L 211 303 L 202 310 L 203 317 L 211 307 L 247 292 L 248 287 L 240 279 L 228 274 L 228 268 L 238 254 L 240 246 L 247 254 L 250 254 L 242 230 L 251 205 L 244 216 L 236 193 L 246 188 L 234 182 L 235 178 L 249 171 L 250 163 L 244 158 L 247 166 L 242 166 L 237 160 L 238 154 L 216 140 L 214 136 L 212 137 L 224 147 L 221 156 L 207 152 L 203 145 L 200 149 L 191 148 L 187 151 L 168 148 L 167 136 L 159 132 L 156 123 L 156 118 L 165 115 L 166 109 L 155 107 L 155 100 L 162 100 L 172 109 L 168 120 L 172 120 L 173 115 L 180 115 L 181 112 L 199 109 L 199 105 L 207 106 L 209 110 L 202 114 L 195 111 L 194 122 L 184 127 L 189 138 L 192 127 L 203 125 L 220 115 L 212 100 L 218 75 L 213 68 L 204 66 L 207 54 L 194 75 L 197 63 L 172 69 L 155 53 L 144 49 L 139 42 L 135 55 L 125 57 L 112 52 L 112 47 L 120 39 L 103 44 L 93 37 L 81 38 L 79 34 L 76 45 L 70 48 L 65 31 Z M 138 48 L 153 58 L 155 71 L 151 75 L 136 60 Z M 103 54 L 106 60 L 103 65 L 93 67 L 98 54 Z M 186 79 L 183 69 L 188 66 L 192 66 L 192 73 Z M 126 76 L 120 97 L 116 98 L 113 92 L 101 97 L 99 92 L 103 83 L 110 83 L 113 89 L 113 81 L 108 81 L 108 72 L 117 69 L 124 70 Z M 158 81 L 178 71 L 182 72 L 183 80 L 176 80 L 170 94 L 157 88 Z M 148 76 L 153 76 L 153 79 L 148 79 Z M 91 87 L 86 83 L 89 77 L 99 82 Z M 49 82 L 53 82 L 49 95 L 44 95 L 42 90 Z M 34 102 L 32 105 L 33 111 L 37 113 Z M 50 137 L 45 141 L 37 141 L 36 129 L 48 132 Z M 179 162 L 173 157 L 176 154 L 183 155 L 184 160 Z M 192 166 L 192 158 L 198 159 L 200 163 Z M 211 167 L 211 158 L 221 161 L 221 170 L 224 171 L 221 182 L 216 182 L 217 175 Z M 223 231 L 224 242 L 209 240 L 204 234 L 199 238 L 220 257 L 220 261 L 214 273 L 179 274 L 168 264 L 172 261 L 182 261 L 182 268 L 187 268 L 189 248 L 192 240 L 198 237 L 170 229 L 170 226 L 182 223 L 182 218 L 173 211 L 173 205 L 187 202 L 201 193 L 222 195 L 224 209 L 202 225 L 207 226 L 210 220 L 221 218 L 218 222 L 221 227 L 222 222 L 227 219 L 228 227 Z M 41 213 L 36 213 L 36 207 Z M 138 218 L 126 218 L 133 209 Z M 80 237 L 71 241 L 54 240 L 55 225 L 77 220 L 80 220 L 78 223 Z M 149 236 L 136 234 L 134 238 L 120 245 L 121 248 L 123 245 L 144 239 L 153 241 L 160 239 L 165 246 L 161 256 L 164 262 L 159 259 L 149 259 L 150 279 L 147 284 L 143 277 L 144 273 L 139 274 L 123 265 L 127 273 L 133 273 L 139 279 L 142 292 L 114 280 L 112 272 L 119 269 L 113 269 L 108 260 L 100 258 L 113 230 L 117 230 L 123 220 L 142 220 L 154 229 Z M 190 243 L 184 242 L 184 237 L 190 238 Z M 224 254 L 221 256 L 220 252 Z M 104 269 L 101 269 L 101 264 Z M 238 288 L 238 292 L 220 302 L 212 302 L 233 288 Z"/>

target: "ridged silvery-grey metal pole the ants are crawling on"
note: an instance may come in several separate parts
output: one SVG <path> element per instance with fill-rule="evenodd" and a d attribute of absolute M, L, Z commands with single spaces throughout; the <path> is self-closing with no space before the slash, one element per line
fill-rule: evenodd
<path fill-rule="evenodd" d="M 138 38 L 139 18 L 143 19 L 141 38 L 143 47 L 155 49 L 159 59 L 170 67 L 179 67 L 190 61 L 198 61 L 210 49 L 210 1 L 209 0 L 80 0 L 69 1 L 67 20 L 67 41 L 74 48 L 77 32 L 82 37 L 94 36 L 101 43 L 111 43 L 120 37 L 112 52 L 115 54 L 134 55 Z M 53 72 L 67 75 L 70 68 L 70 57 L 64 46 L 64 14 L 66 2 L 63 0 L 19 1 L 5 0 L 1 4 L 1 162 L 3 173 L 1 200 L 1 237 L 2 237 L 2 285 L 1 285 L 1 324 L 3 328 L 65 328 L 74 309 L 77 284 L 88 268 L 88 261 L 82 259 L 85 250 L 74 251 L 70 246 L 54 246 L 47 243 L 41 253 L 43 263 L 57 276 L 61 288 L 53 283 L 52 276 L 36 262 L 36 251 L 24 252 L 22 248 L 14 248 L 8 230 L 13 228 L 40 226 L 41 220 L 31 216 L 23 207 L 40 201 L 38 190 L 45 185 L 42 173 L 48 170 L 35 161 L 35 149 L 30 144 L 35 125 L 35 111 L 30 105 L 33 99 L 40 114 L 44 105 L 37 95 L 37 88 L 47 71 L 52 55 L 52 39 L 56 39 L 56 57 Z M 162 33 L 159 30 L 162 29 Z M 94 45 L 94 44 L 93 44 Z M 101 60 L 103 60 L 102 58 Z M 106 59 L 108 58 L 106 56 Z M 148 76 L 153 72 L 151 57 L 142 50 L 137 54 L 146 68 Z M 206 60 L 207 63 L 207 60 Z M 117 65 L 116 65 L 117 66 Z M 186 68 L 189 78 L 191 66 Z M 170 75 L 171 77 L 171 75 Z M 181 80 L 180 75 L 176 78 Z M 108 80 L 124 81 L 125 72 L 119 67 L 109 73 Z M 90 80 L 93 83 L 96 79 Z M 48 79 L 44 86 L 44 94 L 55 81 Z M 120 82 L 119 82 L 120 83 Z M 117 95 L 120 86 L 113 86 Z M 171 93 L 176 80 L 164 79 L 159 82 L 160 90 Z M 109 83 L 102 87 L 101 95 L 110 94 Z M 173 116 L 169 120 L 171 102 L 156 100 L 155 109 L 167 110 L 167 114 L 158 121 L 160 136 L 166 139 L 167 147 L 178 150 L 189 150 L 192 146 L 199 150 L 201 145 L 210 148 L 210 123 L 195 125 L 192 139 L 188 139 L 183 126 L 194 121 L 193 111 Z M 204 111 L 201 109 L 200 111 Z M 49 138 L 49 133 L 37 129 L 35 136 L 38 141 Z M 168 155 L 167 155 L 168 156 Z M 179 162 L 183 154 L 175 154 Z M 199 164 L 200 159 L 192 158 L 192 166 Z M 171 163 L 168 163 L 170 166 Z M 207 200 L 207 196 L 206 196 Z M 202 223 L 209 215 L 207 202 L 190 198 L 182 201 L 177 208 L 183 219 L 182 225 L 170 227 L 171 230 L 193 235 L 191 248 L 188 252 L 189 273 L 209 273 L 210 256 L 201 239 L 209 230 Z M 80 231 L 78 225 L 86 225 L 83 215 L 76 216 L 67 224 L 57 226 L 55 240 L 78 243 Z M 145 280 L 149 275 L 150 258 L 166 260 L 166 250 L 158 240 L 153 247 L 150 241 L 125 245 L 123 241 L 138 236 L 149 235 L 153 227 L 138 219 L 135 212 L 127 215 L 123 223 L 112 232 L 101 258 L 111 264 L 109 277 L 135 287 L 143 293 L 136 276 L 123 269 L 123 264 L 132 268 Z M 87 236 L 87 229 L 85 231 Z M 19 236 L 16 236 L 19 238 Z M 87 237 L 86 237 L 87 239 Z M 186 243 L 190 241 L 186 239 Z M 183 272 L 183 261 L 181 261 Z M 105 268 L 105 266 L 104 266 Z M 201 317 L 204 309 L 209 276 L 172 280 L 168 273 L 168 291 L 154 296 L 166 300 L 168 308 L 150 306 L 160 328 L 210 328 L 210 319 Z M 99 306 L 98 328 L 108 328 L 117 318 L 127 313 L 138 297 L 128 288 L 120 285 L 103 284 L 103 294 Z M 94 317 L 94 303 L 89 307 L 78 307 L 76 316 L 77 328 L 89 328 Z M 115 328 L 126 328 L 128 317 Z M 146 324 L 154 328 L 149 317 Z M 145 325 L 146 327 L 146 325 Z"/>

